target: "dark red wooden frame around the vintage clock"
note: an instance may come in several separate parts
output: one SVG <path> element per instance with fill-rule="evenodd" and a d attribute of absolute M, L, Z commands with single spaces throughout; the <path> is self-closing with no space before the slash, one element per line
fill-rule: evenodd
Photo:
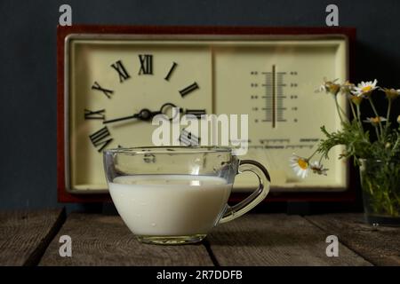
<path fill-rule="evenodd" d="M 349 78 L 354 78 L 356 28 L 266 28 L 266 27 L 125 27 L 71 26 L 57 28 L 57 187 L 60 202 L 107 202 L 108 193 L 73 194 L 65 186 L 64 153 L 64 41 L 69 34 L 136 35 L 345 35 L 349 46 Z M 349 170 L 349 189 L 340 193 L 269 193 L 266 201 L 355 201 L 355 169 Z M 234 193 L 230 201 L 240 201 L 247 194 Z"/>

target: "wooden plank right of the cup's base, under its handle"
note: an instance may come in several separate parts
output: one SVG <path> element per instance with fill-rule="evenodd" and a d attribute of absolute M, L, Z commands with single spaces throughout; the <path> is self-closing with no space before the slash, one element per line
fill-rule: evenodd
<path fill-rule="evenodd" d="M 371 265 L 339 244 L 339 257 L 326 256 L 328 234 L 299 216 L 245 215 L 209 234 L 220 265 Z"/>

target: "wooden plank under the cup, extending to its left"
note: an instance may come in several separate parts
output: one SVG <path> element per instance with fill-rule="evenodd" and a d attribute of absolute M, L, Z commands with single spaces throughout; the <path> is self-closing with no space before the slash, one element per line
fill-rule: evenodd
<path fill-rule="evenodd" d="M 59 255 L 61 235 L 72 239 L 72 256 Z M 39 265 L 213 265 L 203 244 L 160 246 L 135 239 L 119 216 L 72 213 Z"/>

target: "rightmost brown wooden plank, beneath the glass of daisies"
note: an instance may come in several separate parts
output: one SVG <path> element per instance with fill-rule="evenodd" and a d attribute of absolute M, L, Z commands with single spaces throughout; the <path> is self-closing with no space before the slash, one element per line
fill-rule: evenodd
<path fill-rule="evenodd" d="M 309 221 L 376 265 L 400 265 L 400 228 L 364 224 L 363 214 L 309 216 Z"/>

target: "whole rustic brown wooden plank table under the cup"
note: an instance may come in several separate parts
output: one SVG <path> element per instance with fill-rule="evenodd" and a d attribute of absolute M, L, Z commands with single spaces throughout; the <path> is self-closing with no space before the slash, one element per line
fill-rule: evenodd
<path fill-rule="evenodd" d="M 72 256 L 59 254 L 60 236 Z M 339 256 L 326 256 L 328 235 Z M 0 265 L 400 265 L 400 228 L 372 227 L 362 214 L 248 214 L 200 244 L 141 244 L 118 216 L 52 209 L 0 213 Z"/>

